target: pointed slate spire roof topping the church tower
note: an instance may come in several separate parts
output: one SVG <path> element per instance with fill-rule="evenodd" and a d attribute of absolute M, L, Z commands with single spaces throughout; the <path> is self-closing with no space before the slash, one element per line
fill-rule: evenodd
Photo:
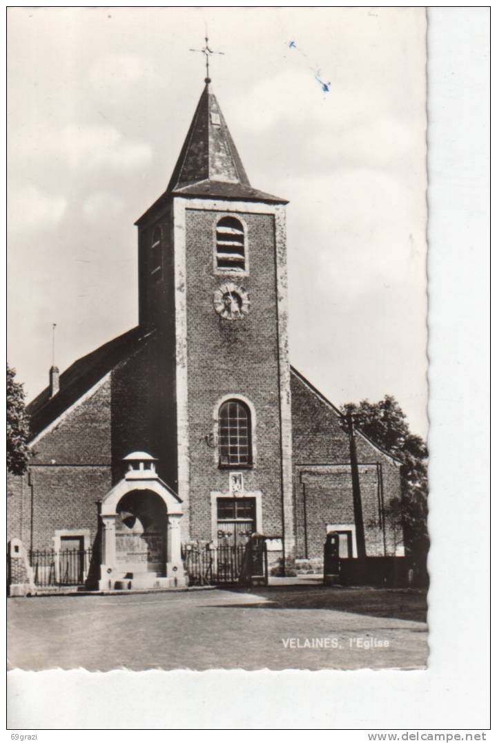
<path fill-rule="evenodd" d="M 209 83 L 200 96 L 167 189 L 136 224 L 172 195 L 288 203 L 284 198 L 252 188 Z"/>

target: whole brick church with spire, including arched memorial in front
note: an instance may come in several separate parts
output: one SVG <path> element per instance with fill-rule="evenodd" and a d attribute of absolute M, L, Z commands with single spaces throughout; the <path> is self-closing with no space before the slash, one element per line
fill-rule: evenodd
<path fill-rule="evenodd" d="M 188 585 L 188 549 L 263 535 L 280 574 L 403 554 L 400 463 L 291 366 L 285 198 L 251 186 L 205 78 L 168 188 L 136 221 L 135 328 L 27 407 L 8 481 L 25 554 L 92 555 L 101 590 Z M 85 568 L 85 580 L 88 579 Z"/>

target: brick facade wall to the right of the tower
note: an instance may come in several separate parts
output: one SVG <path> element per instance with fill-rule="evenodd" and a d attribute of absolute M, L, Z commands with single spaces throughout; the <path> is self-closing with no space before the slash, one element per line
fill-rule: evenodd
<path fill-rule="evenodd" d="M 297 557 L 323 554 L 326 525 L 354 523 L 349 437 L 337 413 L 292 373 L 294 514 Z M 391 458 L 356 437 L 366 554 L 395 553 L 392 525 L 382 520 L 381 499 L 400 493 L 400 473 Z M 383 493 L 382 486 L 383 485 Z"/>

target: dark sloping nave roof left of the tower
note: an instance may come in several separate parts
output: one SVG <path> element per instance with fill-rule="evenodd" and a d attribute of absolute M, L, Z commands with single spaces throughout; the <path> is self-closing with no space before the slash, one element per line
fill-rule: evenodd
<path fill-rule="evenodd" d="M 149 336 L 143 328 L 132 328 L 71 364 L 60 375 L 60 389 L 53 398 L 50 398 L 50 388 L 46 387 L 26 406 L 30 417 L 30 438 L 76 403 L 119 362 L 136 352 Z"/>

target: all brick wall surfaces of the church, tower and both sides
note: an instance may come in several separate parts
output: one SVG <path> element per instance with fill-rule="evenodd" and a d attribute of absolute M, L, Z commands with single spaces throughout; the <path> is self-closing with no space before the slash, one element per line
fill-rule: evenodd
<path fill-rule="evenodd" d="M 262 492 L 263 523 L 257 529 L 276 536 L 282 533 L 282 468 L 274 217 L 240 215 L 247 225 L 250 273 L 236 277 L 214 270 L 214 224 L 221 213 L 187 209 L 185 215 L 190 533 L 192 539 L 211 539 L 211 491 L 228 493 L 230 470 L 219 468 L 217 448 L 206 438 L 215 431 L 220 398 L 243 395 L 255 412 L 254 467 L 243 469 L 244 490 Z M 159 218 L 163 281 L 152 291 L 155 303 L 149 297 L 140 305 L 151 330 L 148 340 L 34 444 L 29 476 L 9 478 L 9 538 L 19 537 L 28 548 L 50 548 L 57 529 L 88 529 L 93 540 L 96 501 L 122 476 L 122 457 L 131 451 L 157 456 L 159 475 L 177 489 L 174 246 L 168 219 L 168 212 Z M 146 250 L 152 228 L 140 233 L 142 290 L 150 281 Z M 249 293 L 250 312 L 241 321 L 222 320 L 214 311 L 214 291 L 226 281 Z M 297 374 L 292 428 L 297 557 L 321 557 L 326 524 L 353 522 L 349 440 L 332 406 Z M 366 551 L 383 554 L 386 542 L 392 552 L 392 529 L 381 524 L 381 484 L 387 504 L 399 493 L 398 467 L 361 435 L 357 450 Z"/>

